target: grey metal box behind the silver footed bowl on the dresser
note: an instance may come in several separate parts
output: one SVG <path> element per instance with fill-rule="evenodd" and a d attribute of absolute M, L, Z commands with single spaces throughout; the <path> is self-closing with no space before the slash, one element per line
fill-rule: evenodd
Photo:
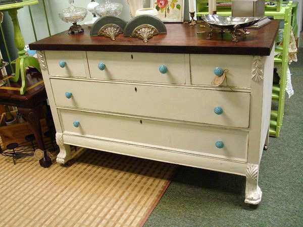
<path fill-rule="evenodd" d="M 232 17 L 263 17 L 264 14 L 264 0 L 232 0 Z"/>

